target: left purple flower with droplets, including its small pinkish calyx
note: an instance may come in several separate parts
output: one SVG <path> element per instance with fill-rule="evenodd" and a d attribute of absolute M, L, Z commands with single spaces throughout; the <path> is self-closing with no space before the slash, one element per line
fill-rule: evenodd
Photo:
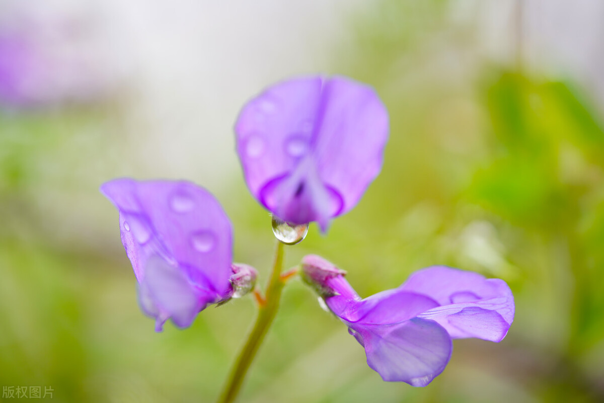
<path fill-rule="evenodd" d="M 207 190 L 185 181 L 115 179 L 101 192 L 120 212 L 138 301 L 156 319 L 156 331 L 169 318 L 179 328 L 190 326 L 206 306 L 255 280 L 253 268 L 231 266 L 231 223 Z"/>

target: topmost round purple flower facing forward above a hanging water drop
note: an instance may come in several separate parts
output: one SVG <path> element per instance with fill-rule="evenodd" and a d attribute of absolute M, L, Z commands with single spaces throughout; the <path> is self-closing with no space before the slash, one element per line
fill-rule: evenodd
<path fill-rule="evenodd" d="M 294 78 L 249 101 L 235 126 L 249 190 L 290 224 L 350 211 L 382 167 L 388 113 L 344 77 Z"/>

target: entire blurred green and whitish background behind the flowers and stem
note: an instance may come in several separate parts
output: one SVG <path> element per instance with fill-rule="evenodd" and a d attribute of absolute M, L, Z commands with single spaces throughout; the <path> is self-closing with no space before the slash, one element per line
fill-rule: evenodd
<path fill-rule="evenodd" d="M 240 401 L 604 401 L 602 71 L 591 0 L 0 1 L 0 386 L 214 401 L 254 303 L 153 332 L 98 186 L 205 186 L 263 283 L 275 240 L 233 124 L 263 87 L 323 72 L 376 88 L 390 141 L 361 203 L 286 265 L 323 255 L 361 296 L 433 264 L 475 270 L 510 284 L 516 319 L 499 344 L 455 341 L 415 389 L 382 382 L 292 281 Z"/>

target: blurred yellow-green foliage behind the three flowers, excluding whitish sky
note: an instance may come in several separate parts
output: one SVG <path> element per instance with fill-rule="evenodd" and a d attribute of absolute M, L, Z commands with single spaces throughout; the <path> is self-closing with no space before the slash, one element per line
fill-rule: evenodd
<path fill-rule="evenodd" d="M 473 51 L 451 7 L 378 1 L 352 17 L 356 39 L 330 69 L 384 99 L 385 165 L 358 207 L 327 236 L 312 226 L 286 264 L 323 255 L 362 296 L 433 264 L 502 278 L 516 297 L 509 335 L 455 341 L 426 388 L 386 383 L 345 326 L 292 281 L 242 402 L 604 399 L 600 112 L 573 80 Z M 97 193 L 126 157 L 117 108 L 0 112 L 0 386 L 52 386 L 60 402 L 210 402 L 254 306 L 237 300 L 185 331 L 153 332 L 117 212 Z M 182 144 L 182 153 L 196 150 Z M 234 224 L 236 261 L 259 268 L 263 282 L 274 247 L 268 214 L 240 175 L 217 195 Z"/>

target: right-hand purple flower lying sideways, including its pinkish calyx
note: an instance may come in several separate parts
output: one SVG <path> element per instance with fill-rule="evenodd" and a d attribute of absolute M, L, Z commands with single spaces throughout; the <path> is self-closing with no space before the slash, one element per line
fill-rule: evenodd
<path fill-rule="evenodd" d="M 452 338 L 498 342 L 514 319 L 512 291 L 500 279 L 433 266 L 361 299 L 344 274 L 320 256 L 303 259 L 304 280 L 365 347 L 367 364 L 384 381 L 426 386 L 449 362 Z"/>

